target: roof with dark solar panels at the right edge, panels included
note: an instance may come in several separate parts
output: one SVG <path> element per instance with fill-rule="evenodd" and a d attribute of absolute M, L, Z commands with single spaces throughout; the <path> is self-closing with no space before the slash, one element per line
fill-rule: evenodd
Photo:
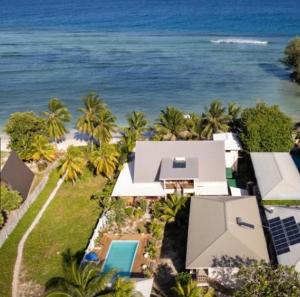
<path fill-rule="evenodd" d="M 300 209 L 268 206 L 265 209 L 279 264 L 295 266 L 300 272 Z"/>

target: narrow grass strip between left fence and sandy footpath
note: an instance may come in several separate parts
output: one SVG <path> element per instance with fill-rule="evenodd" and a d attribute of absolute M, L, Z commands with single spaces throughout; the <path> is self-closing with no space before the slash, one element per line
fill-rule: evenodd
<path fill-rule="evenodd" d="M 54 189 L 58 179 L 58 172 L 53 170 L 49 176 L 48 183 L 46 184 L 44 190 L 28 209 L 15 230 L 10 234 L 0 249 L 0 296 L 11 296 L 12 274 L 19 241 L 47 200 L 49 194 Z"/>

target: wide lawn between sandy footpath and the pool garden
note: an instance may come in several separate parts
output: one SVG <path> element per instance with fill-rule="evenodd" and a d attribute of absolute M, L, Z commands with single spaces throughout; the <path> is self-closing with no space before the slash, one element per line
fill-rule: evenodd
<path fill-rule="evenodd" d="M 101 176 L 86 171 L 73 186 L 64 183 L 40 223 L 28 238 L 24 251 L 26 278 L 40 285 L 62 275 L 62 253 L 83 250 L 100 215 L 90 196 L 105 184 Z"/>

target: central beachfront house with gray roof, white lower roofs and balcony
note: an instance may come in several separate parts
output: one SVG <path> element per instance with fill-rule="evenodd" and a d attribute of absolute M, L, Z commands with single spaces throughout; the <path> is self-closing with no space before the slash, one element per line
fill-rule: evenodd
<path fill-rule="evenodd" d="M 137 141 L 112 196 L 228 195 L 223 141 Z"/>

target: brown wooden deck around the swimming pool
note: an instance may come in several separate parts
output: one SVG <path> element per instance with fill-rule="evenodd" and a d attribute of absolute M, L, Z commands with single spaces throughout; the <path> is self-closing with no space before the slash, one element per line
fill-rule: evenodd
<path fill-rule="evenodd" d="M 142 275 L 142 265 L 146 264 L 147 266 L 149 266 L 151 262 L 149 258 L 144 257 L 145 247 L 150 238 L 151 236 L 149 234 L 103 234 L 100 241 L 102 248 L 95 252 L 101 259 L 101 263 L 103 263 L 112 240 L 139 240 L 139 246 L 136 251 L 135 260 L 131 270 L 132 276 L 138 277 Z"/>

